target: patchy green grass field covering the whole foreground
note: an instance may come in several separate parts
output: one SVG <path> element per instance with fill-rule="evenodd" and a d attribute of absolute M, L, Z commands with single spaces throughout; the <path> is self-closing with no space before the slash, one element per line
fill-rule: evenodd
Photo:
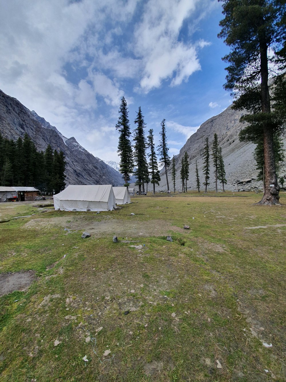
<path fill-rule="evenodd" d="M 285 381 L 286 194 L 260 199 L 135 196 L 100 214 L 1 203 L 0 282 L 35 280 L 0 297 L 0 380 Z"/>

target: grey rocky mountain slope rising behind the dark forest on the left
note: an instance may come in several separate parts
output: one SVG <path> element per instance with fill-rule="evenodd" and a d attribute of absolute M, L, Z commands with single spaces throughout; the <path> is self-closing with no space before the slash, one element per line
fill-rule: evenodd
<path fill-rule="evenodd" d="M 0 131 L 4 137 L 14 140 L 27 133 L 39 151 L 44 151 L 48 144 L 54 150 L 63 151 L 66 156 L 66 185 L 124 183 L 119 172 L 90 154 L 74 137 L 64 137 L 55 126 L 1 90 Z"/>

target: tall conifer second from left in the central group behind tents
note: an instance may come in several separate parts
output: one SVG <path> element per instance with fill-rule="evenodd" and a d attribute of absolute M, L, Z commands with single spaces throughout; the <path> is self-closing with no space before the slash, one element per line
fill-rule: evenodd
<path fill-rule="evenodd" d="M 134 172 L 134 175 L 137 178 L 137 181 L 135 183 L 136 186 L 139 186 L 139 195 L 141 195 L 141 186 L 143 186 L 144 190 L 144 180 L 146 178 L 146 142 L 145 142 L 145 136 L 144 136 L 144 128 L 146 127 L 146 123 L 144 122 L 144 116 L 141 112 L 141 107 L 139 106 L 137 117 L 134 121 L 135 124 L 137 124 L 137 128 L 134 130 L 134 161 L 135 166 L 137 167 L 137 170 Z"/>

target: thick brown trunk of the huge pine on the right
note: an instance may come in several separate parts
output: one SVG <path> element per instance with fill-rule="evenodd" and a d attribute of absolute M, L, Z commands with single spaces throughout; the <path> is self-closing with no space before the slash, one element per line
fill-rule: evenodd
<path fill-rule="evenodd" d="M 262 113 L 270 113 L 270 97 L 268 89 L 268 58 L 265 32 L 260 36 L 260 68 L 261 68 L 261 109 Z M 265 190 L 264 195 L 257 204 L 280 204 L 280 186 L 277 182 L 273 131 L 265 125 L 263 129 L 263 148 L 264 148 L 264 168 L 265 168 Z"/>

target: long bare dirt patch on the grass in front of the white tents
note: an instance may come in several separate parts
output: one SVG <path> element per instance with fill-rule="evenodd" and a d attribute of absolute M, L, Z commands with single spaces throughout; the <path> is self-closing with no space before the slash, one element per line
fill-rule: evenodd
<path fill-rule="evenodd" d="M 168 231 L 176 231 L 186 234 L 186 230 L 180 227 L 171 225 L 164 220 L 148 220 L 140 221 L 133 220 L 132 222 L 119 219 L 104 219 L 101 222 L 87 221 L 79 219 L 77 221 L 72 217 L 55 217 L 51 219 L 32 219 L 27 222 L 24 227 L 32 229 L 41 229 L 45 227 L 58 226 L 65 228 L 67 225 L 72 231 L 88 231 L 93 237 L 101 237 L 103 235 L 116 235 L 121 237 L 146 237 L 146 236 L 162 236 L 167 235 Z"/>

